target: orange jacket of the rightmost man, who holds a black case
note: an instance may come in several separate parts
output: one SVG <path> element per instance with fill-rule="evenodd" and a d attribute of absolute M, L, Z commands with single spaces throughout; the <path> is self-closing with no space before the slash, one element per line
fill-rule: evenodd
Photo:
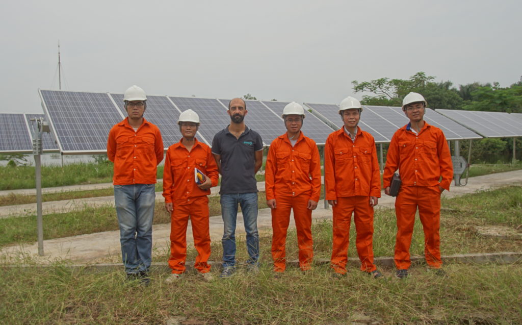
<path fill-rule="evenodd" d="M 383 185 L 388 187 L 399 169 L 403 185 L 440 185 L 449 191 L 453 179 L 453 163 L 446 137 L 441 129 L 424 122 L 419 135 L 401 127 L 392 137 L 386 156 Z M 442 180 L 439 182 L 442 176 Z"/>

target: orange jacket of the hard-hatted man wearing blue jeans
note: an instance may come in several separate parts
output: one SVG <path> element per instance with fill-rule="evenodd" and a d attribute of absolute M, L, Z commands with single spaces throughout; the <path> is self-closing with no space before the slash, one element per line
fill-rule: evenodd
<path fill-rule="evenodd" d="M 163 160 L 160 130 L 143 119 L 134 131 L 125 118 L 109 131 L 107 157 L 114 162 L 114 185 L 156 183 L 157 166 Z"/>

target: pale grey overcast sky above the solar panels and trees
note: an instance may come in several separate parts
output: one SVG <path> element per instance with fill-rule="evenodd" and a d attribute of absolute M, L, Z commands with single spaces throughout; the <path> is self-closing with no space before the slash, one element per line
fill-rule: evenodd
<path fill-rule="evenodd" d="M 522 75 L 520 1 L 2 1 L 2 113 L 38 89 L 338 103 L 352 80 Z"/>

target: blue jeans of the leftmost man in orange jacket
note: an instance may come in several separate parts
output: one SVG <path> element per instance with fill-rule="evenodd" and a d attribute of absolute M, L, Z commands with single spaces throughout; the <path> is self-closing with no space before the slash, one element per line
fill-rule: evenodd
<path fill-rule="evenodd" d="M 114 185 L 126 273 L 147 272 L 152 260 L 155 184 Z"/>

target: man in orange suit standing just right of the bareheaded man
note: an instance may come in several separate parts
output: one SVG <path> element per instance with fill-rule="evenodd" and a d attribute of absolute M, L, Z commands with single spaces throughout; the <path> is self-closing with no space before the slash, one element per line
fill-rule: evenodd
<path fill-rule="evenodd" d="M 312 210 L 321 194 L 321 159 L 315 142 L 301 131 L 304 109 L 291 102 L 283 109 L 287 132 L 270 144 L 265 168 L 266 203 L 272 213 L 272 259 L 276 275 L 286 269 L 286 238 L 293 210 L 299 267 L 311 269 L 314 256 Z"/>

